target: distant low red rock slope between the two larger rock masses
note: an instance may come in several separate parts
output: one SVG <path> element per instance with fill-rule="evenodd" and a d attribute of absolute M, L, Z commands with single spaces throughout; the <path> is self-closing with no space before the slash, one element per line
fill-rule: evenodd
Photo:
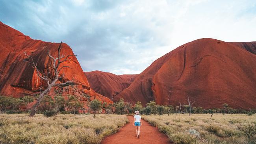
<path fill-rule="evenodd" d="M 117 76 L 109 72 L 101 72 L 98 70 L 85 72 L 85 75 L 92 89 L 110 99 L 127 88 L 137 76 L 137 74 Z"/>

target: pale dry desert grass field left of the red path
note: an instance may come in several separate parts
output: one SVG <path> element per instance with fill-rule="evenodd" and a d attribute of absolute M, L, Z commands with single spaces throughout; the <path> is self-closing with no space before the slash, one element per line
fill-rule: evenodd
<path fill-rule="evenodd" d="M 0 144 L 99 144 L 128 123 L 125 115 L 0 114 Z"/>

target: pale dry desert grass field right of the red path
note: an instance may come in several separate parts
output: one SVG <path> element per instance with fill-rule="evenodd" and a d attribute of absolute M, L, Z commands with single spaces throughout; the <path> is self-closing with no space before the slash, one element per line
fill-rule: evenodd
<path fill-rule="evenodd" d="M 142 116 L 177 144 L 256 144 L 256 114 Z M 254 132 L 253 132 L 254 131 Z M 247 134 L 252 134 L 250 137 Z"/>

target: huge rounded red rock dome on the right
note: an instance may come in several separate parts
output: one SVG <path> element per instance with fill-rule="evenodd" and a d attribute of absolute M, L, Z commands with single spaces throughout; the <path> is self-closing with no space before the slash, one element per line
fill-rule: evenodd
<path fill-rule="evenodd" d="M 198 39 L 179 46 L 154 61 L 113 100 L 143 104 L 256 108 L 256 42 Z"/>

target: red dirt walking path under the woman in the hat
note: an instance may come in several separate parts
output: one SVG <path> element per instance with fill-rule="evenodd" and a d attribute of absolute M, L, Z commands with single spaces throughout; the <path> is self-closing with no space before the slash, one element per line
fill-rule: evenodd
<path fill-rule="evenodd" d="M 100 144 L 172 144 L 171 140 L 161 133 L 156 127 L 142 120 L 140 137 L 136 137 L 134 117 L 128 116 L 129 123 L 123 126 L 117 133 L 102 140 Z"/>

